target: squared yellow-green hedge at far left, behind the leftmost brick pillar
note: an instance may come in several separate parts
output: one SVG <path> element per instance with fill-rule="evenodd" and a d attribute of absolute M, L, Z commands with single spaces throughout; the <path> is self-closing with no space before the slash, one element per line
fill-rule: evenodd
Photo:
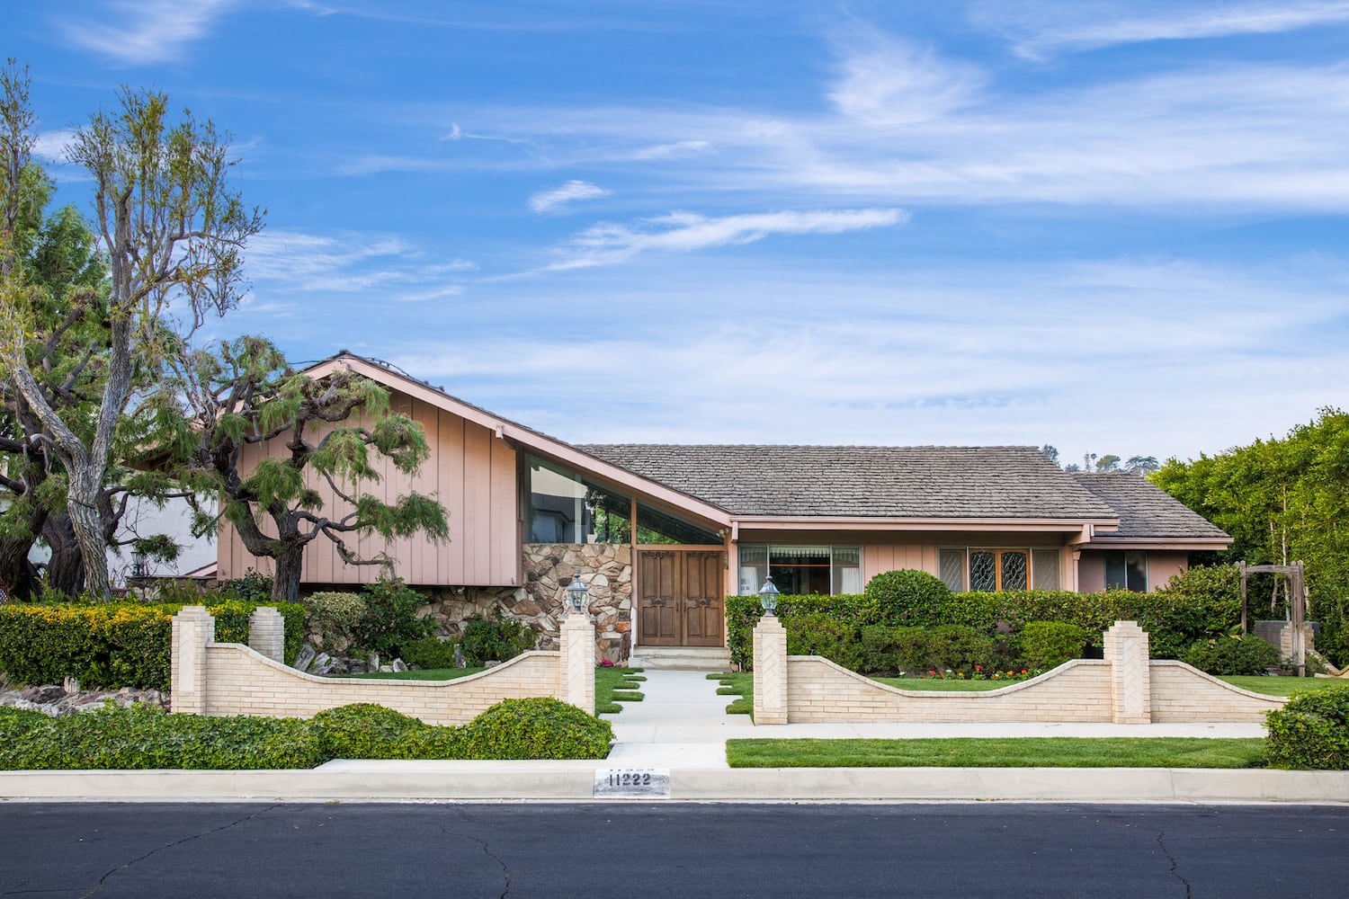
<path fill-rule="evenodd" d="M 248 617 L 259 604 L 204 597 L 216 617 L 219 643 L 247 643 Z M 260 605 L 271 605 L 263 602 Z M 169 689 L 169 656 L 177 602 L 11 602 L 0 605 L 0 671 L 15 683 Z M 277 604 L 286 623 L 286 660 L 305 636 L 305 609 Z"/>

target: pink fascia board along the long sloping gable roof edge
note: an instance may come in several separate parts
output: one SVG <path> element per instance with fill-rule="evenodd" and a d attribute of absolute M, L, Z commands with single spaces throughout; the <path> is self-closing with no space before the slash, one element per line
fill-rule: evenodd
<path fill-rule="evenodd" d="M 730 512 L 726 509 L 696 500 L 687 493 L 681 493 L 676 489 L 665 487 L 664 484 L 658 484 L 657 481 L 648 480 L 641 474 L 634 474 L 633 472 L 619 468 L 612 462 L 606 462 L 590 456 L 588 453 L 583 453 L 569 443 L 545 437 L 538 431 L 521 427 L 519 425 L 509 422 L 503 418 L 490 415 L 480 408 L 456 400 L 453 396 L 448 396 L 433 387 L 403 377 L 398 372 L 389 371 L 387 368 L 372 365 L 363 359 L 355 356 L 337 356 L 305 369 L 305 373 L 310 377 L 322 377 L 337 368 L 351 368 L 371 380 L 393 387 L 403 394 L 407 394 L 409 396 L 413 396 L 414 399 L 420 399 L 448 412 L 453 412 L 455 415 L 473 422 L 475 425 L 480 425 L 490 431 L 494 431 L 499 439 L 525 446 L 569 468 L 575 468 L 587 474 L 594 474 L 596 478 L 610 481 L 615 487 L 623 487 L 635 493 L 642 493 L 654 500 L 660 500 L 666 505 L 672 505 L 680 511 L 712 522 L 720 527 L 730 527 L 731 524 Z"/>

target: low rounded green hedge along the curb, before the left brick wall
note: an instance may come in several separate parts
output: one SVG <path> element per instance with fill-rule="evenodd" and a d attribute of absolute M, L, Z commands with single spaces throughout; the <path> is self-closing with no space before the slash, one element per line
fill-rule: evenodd
<path fill-rule="evenodd" d="M 0 770 L 313 768 L 331 759 L 603 759 L 608 721 L 550 698 L 506 700 L 461 726 L 371 704 L 313 718 L 166 714 L 108 705 L 50 718 L 0 708 Z"/>

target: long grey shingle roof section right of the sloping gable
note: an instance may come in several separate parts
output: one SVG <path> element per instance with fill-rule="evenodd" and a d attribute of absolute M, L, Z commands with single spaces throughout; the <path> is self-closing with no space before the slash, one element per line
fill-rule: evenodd
<path fill-rule="evenodd" d="M 577 449 L 734 515 L 1114 519 L 1033 446 L 724 446 Z"/>

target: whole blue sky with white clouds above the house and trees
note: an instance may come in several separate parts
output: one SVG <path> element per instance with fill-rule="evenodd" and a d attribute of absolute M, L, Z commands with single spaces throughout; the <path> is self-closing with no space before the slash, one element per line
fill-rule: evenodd
<path fill-rule="evenodd" d="M 210 333 L 568 441 L 1193 457 L 1349 404 L 1349 1 L 16 4 L 266 206 Z"/>

